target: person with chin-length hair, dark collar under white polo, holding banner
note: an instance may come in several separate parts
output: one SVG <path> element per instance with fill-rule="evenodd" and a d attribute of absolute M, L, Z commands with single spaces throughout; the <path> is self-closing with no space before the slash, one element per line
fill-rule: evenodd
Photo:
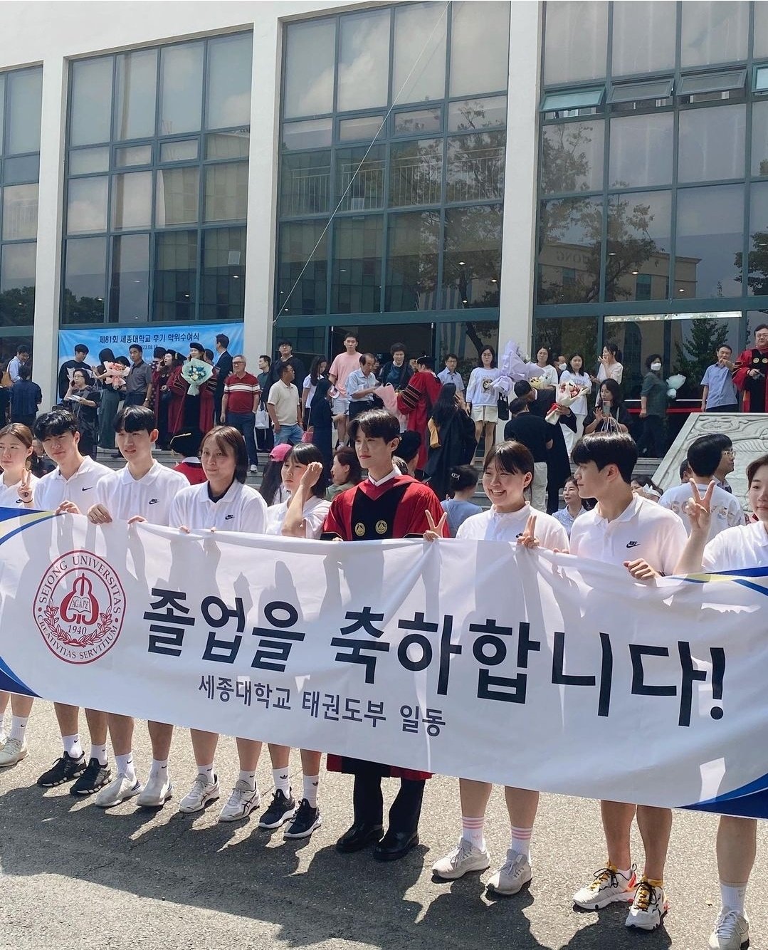
<path fill-rule="evenodd" d="M 200 462 L 207 481 L 178 492 L 171 509 L 171 524 L 187 532 L 208 528 L 212 531 L 264 534 L 267 504 L 254 488 L 245 484 L 248 449 L 238 429 L 232 426 L 212 428 L 200 443 Z M 218 733 L 197 729 L 191 732 L 197 778 L 178 805 L 179 811 L 183 812 L 199 811 L 219 797 L 218 776 L 214 769 Z M 229 801 L 218 816 L 220 822 L 247 818 L 261 802 L 256 786 L 261 743 L 242 738 L 236 742 L 240 775 Z"/>

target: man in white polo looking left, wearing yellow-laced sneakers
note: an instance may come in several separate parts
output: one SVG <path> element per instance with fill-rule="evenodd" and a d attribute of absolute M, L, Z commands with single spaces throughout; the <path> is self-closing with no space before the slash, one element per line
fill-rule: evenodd
<path fill-rule="evenodd" d="M 571 554 L 593 561 L 624 565 L 636 580 L 672 574 L 685 544 L 685 528 L 676 514 L 632 494 L 632 469 L 637 446 L 624 433 L 586 435 L 572 454 L 574 478 L 581 498 L 596 506 L 571 528 Z M 626 924 L 641 930 L 661 925 L 667 904 L 664 867 L 672 828 L 669 808 L 601 802 L 608 862 L 594 880 L 573 895 L 586 910 L 613 902 L 631 902 Z M 629 828 L 637 825 L 646 849 L 646 864 L 637 882 L 629 856 Z"/>

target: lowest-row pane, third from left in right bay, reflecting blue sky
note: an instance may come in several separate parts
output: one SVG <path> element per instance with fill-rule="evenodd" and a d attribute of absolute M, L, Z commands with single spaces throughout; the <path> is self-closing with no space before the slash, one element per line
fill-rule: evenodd
<path fill-rule="evenodd" d="M 738 296 L 743 240 L 743 187 L 684 188 L 678 192 L 675 255 L 690 273 L 675 276 L 675 298 Z M 739 263 L 735 263 L 739 259 Z M 686 273 L 688 267 L 685 266 Z"/>

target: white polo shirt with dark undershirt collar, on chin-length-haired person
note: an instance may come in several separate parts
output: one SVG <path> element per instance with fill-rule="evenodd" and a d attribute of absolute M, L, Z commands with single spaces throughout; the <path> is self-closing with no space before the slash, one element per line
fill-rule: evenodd
<path fill-rule="evenodd" d="M 267 530 L 267 503 L 248 485 L 233 482 L 217 502 L 208 494 L 208 483 L 190 485 L 179 491 L 171 505 L 171 527 L 217 528 L 264 534 Z"/>

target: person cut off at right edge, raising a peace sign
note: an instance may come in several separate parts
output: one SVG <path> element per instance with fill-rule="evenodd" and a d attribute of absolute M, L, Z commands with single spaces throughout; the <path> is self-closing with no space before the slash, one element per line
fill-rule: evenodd
<path fill-rule="evenodd" d="M 691 479 L 692 498 L 685 507 L 691 533 L 678 561 L 678 574 L 768 566 L 768 455 L 747 466 L 747 485 L 747 500 L 757 521 L 725 528 L 710 541 L 717 485 L 710 482 L 702 493 Z M 711 950 L 740 950 L 749 943 L 744 899 L 755 864 L 757 835 L 757 819 L 721 815 L 717 843 L 721 911 L 709 938 Z"/>

